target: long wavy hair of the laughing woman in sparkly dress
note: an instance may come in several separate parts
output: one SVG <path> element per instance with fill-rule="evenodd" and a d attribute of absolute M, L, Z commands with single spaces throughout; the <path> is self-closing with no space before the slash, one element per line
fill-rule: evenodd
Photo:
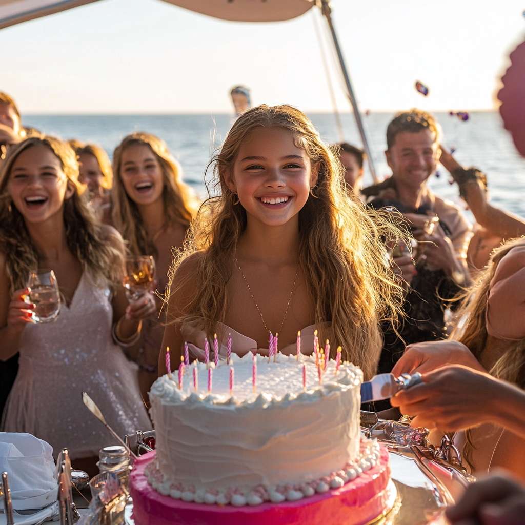
<path fill-rule="evenodd" d="M 13 163 L 23 151 L 43 145 L 53 152 L 62 165 L 74 194 L 64 201 L 64 228 L 71 253 L 84 271 L 101 285 L 113 287 L 122 278 L 123 256 L 107 242 L 106 235 L 90 211 L 85 186 L 78 182 L 78 162 L 69 144 L 55 137 L 40 135 L 26 139 L 9 149 L 0 170 L 0 251 L 6 257 L 10 293 L 24 288 L 30 271 L 38 268 L 38 253 L 27 230 L 24 217 L 9 195 L 7 183 Z"/>

